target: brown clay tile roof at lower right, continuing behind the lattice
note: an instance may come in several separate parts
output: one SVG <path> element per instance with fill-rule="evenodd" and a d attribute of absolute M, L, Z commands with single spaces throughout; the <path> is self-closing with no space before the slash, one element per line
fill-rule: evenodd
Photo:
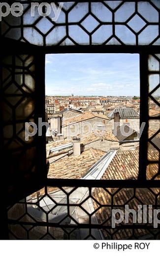
<path fill-rule="evenodd" d="M 158 153 L 154 150 L 149 151 L 149 156 L 158 155 Z M 139 165 L 139 151 L 117 151 L 115 157 L 108 165 L 104 174 L 101 177 L 101 180 L 125 180 L 125 179 L 137 179 L 138 177 L 138 165 Z M 152 168 L 147 170 L 147 179 L 151 179 L 153 175 L 157 173 L 156 164 L 152 165 Z M 113 194 L 119 189 L 108 189 L 109 193 Z M 156 189 L 158 190 L 158 189 Z M 151 204 L 155 203 L 154 195 L 148 189 L 136 189 L 136 196 L 143 201 L 143 204 Z M 96 188 L 93 192 L 94 198 L 101 204 L 111 204 L 111 195 L 108 192 L 104 191 L 102 188 Z M 114 204 L 116 205 L 125 205 L 128 202 L 130 209 L 137 210 L 138 202 L 136 198 L 132 198 L 133 189 L 122 189 L 117 194 L 114 195 Z M 131 198 L 130 202 L 129 199 Z M 97 204 L 93 201 L 95 209 L 97 208 Z M 96 212 L 96 218 L 99 224 L 106 221 L 110 217 L 110 210 L 108 208 L 101 208 Z M 111 220 L 107 221 L 108 225 L 111 225 Z M 130 223 L 132 224 L 132 223 Z M 108 233 L 105 230 L 102 230 L 104 237 L 109 238 Z M 138 232 L 137 236 L 146 235 L 146 231 L 143 229 L 135 230 Z M 115 233 L 113 239 L 126 239 L 131 235 L 131 230 L 125 229 L 125 232 L 117 232 Z"/>

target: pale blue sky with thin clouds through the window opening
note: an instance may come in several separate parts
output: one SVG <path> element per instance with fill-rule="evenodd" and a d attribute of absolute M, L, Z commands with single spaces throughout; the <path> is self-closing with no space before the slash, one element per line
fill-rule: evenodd
<path fill-rule="evenodd" d="M 138 54 L 47 54 L 46 95 L 139 96 Z"/>

